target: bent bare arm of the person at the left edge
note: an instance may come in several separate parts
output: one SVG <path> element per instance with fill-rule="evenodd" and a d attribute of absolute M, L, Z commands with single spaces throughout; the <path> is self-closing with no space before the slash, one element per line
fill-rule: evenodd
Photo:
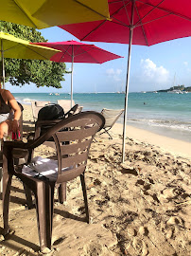
<path fill-rule="evenodd" d="M 15 100 L 14 96 L 8 90 L 4 92 L 4 96 L 4 99 L 6 99 L 7 103 L 9 103 L 10 107 L 14 111 L 14 119 L 12 121 L 12 132 L 16 133 L 19 128 L 18 120 L 21 117 L 21 108 Z"/>

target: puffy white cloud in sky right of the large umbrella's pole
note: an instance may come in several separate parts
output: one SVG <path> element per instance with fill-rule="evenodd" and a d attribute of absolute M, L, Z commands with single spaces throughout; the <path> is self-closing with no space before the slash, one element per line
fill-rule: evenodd
<path fill-rule="evenodd" d="M 145 82 L 165 83 L 169 79 L 169 71 L 163 65 L 157 66 L 151 60 L 141 60 L 142 77 Z"/>

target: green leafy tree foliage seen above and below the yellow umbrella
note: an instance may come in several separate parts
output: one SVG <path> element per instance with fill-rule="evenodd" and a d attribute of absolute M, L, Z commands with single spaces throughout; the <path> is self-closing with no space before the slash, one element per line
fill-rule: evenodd
<path fill-rule="evenodd" d="M 0 31 L 30 42 L 46 42 L 41 32 L 32 27 L 26 27 L 0 21 Z M 5 59 L 6 81 L 12 85 L 22 86 L 34 82 L 37 87 L 52 86 L 61 88 L 64 81 L 65 64 L 51 61 Z"/>

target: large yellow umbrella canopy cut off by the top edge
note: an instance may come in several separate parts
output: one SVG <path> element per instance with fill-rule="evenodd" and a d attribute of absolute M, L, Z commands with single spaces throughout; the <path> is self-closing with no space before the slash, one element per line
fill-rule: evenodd
<path fill-rule="evenodd" d="M 3 21 L 44 28 L 110 18 L 108 0 L 1 0 Z"/>

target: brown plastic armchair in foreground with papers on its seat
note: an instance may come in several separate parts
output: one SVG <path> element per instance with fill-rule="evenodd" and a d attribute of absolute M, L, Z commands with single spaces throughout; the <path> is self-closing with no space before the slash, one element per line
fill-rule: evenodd
<path fill-rule="evenodd" d="M 24 184 L 34 193 L 38 230 L 40 238 L 40 247 L 51 248 L 52 220 L 54 209 L 54 190 L 62 182 L 67 182 L 76 177 L 80 177 L 86 221 L 89 223 L 89 210 L 87 202 L 87 193 L 85 186 L 85 169 L 89 155 L 90 146 L 96 132 L 102 129 L 105 119 L 99 113 L 89 111 L 74 115 L 68 119 L 63 119 L 55 124 L 42 136 L 37 137 L 31 142 L 12 142 L 6 141 L 3 149 L 4 164 L 4 186 L 3 186 L 3 220 L 4 235 L 9 234 L 9 193 L 12 175 L 19 177 Z M 44 162 L 39 165 L 38 174 L 33 174 L 34 167 L 32 163 L 32 151 L 43 144 L 49 137 L 54 138 L 58 157 L 57 170 L 54 174 L 49 170 L 48 164 Z M 25 149 L 28 151 L 27 164 L 31 168 L 30 173 L 23 173 L 23 165 L 14 166 L 13 150 Z M 42 174 L 43 171 L 43 174 Z M 51 174 L 50 174 L 51 173 Z"/>

